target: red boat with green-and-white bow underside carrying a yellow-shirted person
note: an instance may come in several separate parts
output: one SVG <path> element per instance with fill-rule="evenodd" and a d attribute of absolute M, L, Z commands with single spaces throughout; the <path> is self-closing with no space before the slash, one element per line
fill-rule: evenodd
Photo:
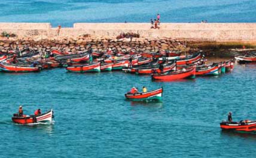
<path fill-rule="evenodd" d="M 162 100 L 163 88 L 152 90 L 145 93 L 126 93 L 125 98 L 133 101 L 145 101 L 145 100 Z"/>

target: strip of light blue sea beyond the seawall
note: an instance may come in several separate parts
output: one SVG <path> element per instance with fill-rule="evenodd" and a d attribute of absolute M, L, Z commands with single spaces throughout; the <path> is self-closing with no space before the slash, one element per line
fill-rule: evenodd
<path fill-rule="evenodd" d="M 0 0 L 0 22 L 255 23 L 255 0 Z"/>

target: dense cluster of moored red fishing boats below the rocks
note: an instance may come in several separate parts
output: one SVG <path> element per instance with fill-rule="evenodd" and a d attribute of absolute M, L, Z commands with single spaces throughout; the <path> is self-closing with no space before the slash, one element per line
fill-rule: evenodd
<path fill-rule="evenodd" d="M 151 75 L 154 80 L 173 81 L 195 76 L 220 75 L 233 69 L 233 60 L 208 65 L 201 53 L 183 55 L 178 51 L 159 52 L 84 52 L 52 50 L 49 53 L 29 49 L 0 55 L 1 72 L 39 72 L 63 67 L 68 72 L 88 73 L 123 71 Z"/>

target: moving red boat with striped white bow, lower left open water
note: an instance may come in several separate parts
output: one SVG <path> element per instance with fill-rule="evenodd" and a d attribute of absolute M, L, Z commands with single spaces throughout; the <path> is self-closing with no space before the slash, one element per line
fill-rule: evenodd
<path fill-rule="evenodd" d="M 13 114 L 12 121 L 16 124 L 35 124 L 39 122 L 52 122 L 53 111 L 50 110 L 41 115 L 23 115 L 19 116 L 19 114 Z"/>

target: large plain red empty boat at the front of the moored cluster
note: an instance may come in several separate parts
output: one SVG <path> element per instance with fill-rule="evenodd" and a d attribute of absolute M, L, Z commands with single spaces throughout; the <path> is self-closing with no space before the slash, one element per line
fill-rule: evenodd
<path fill-rule="evenodd" d="M 195 66 L 187 69 L 182 69 L 169 73 L 154 73 L 152 79 L 161 81 L 173 81 L 177 79 L 185 79 L 188 77 L 195 77 Z"/>

